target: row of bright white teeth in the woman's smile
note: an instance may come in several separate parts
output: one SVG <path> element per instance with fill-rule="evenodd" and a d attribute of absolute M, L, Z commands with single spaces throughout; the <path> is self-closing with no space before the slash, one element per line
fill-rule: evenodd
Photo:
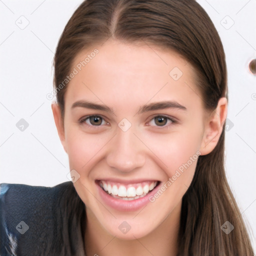
<path fill-rule="evenodd" d="M 119 198 L 123 200 L 134 200 L 140 197 L 145 196 L 149 191 L 153 190 L 156 186 L 157 181 L 151 182 L 149 185 L 145 184 L 143 187 L 138 185 L 137 188 L 134 186 L 129 186 L 127 189 L 124 185 L 120 185 L 119 188 L 116 184 L 110 185 L 108 181 L 100 181 L 99 185 L 111 196 Z"/>

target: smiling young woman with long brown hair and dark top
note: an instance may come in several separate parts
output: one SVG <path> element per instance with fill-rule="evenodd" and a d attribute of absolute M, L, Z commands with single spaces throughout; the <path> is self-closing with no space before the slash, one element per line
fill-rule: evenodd
<path fill-rule="evenodd" d="M 225 55 L 196 1 L 84 1 L 54 89 L 72 182 L 1 185 L 1 255 L 253 255 L 223 166 Z"/>

